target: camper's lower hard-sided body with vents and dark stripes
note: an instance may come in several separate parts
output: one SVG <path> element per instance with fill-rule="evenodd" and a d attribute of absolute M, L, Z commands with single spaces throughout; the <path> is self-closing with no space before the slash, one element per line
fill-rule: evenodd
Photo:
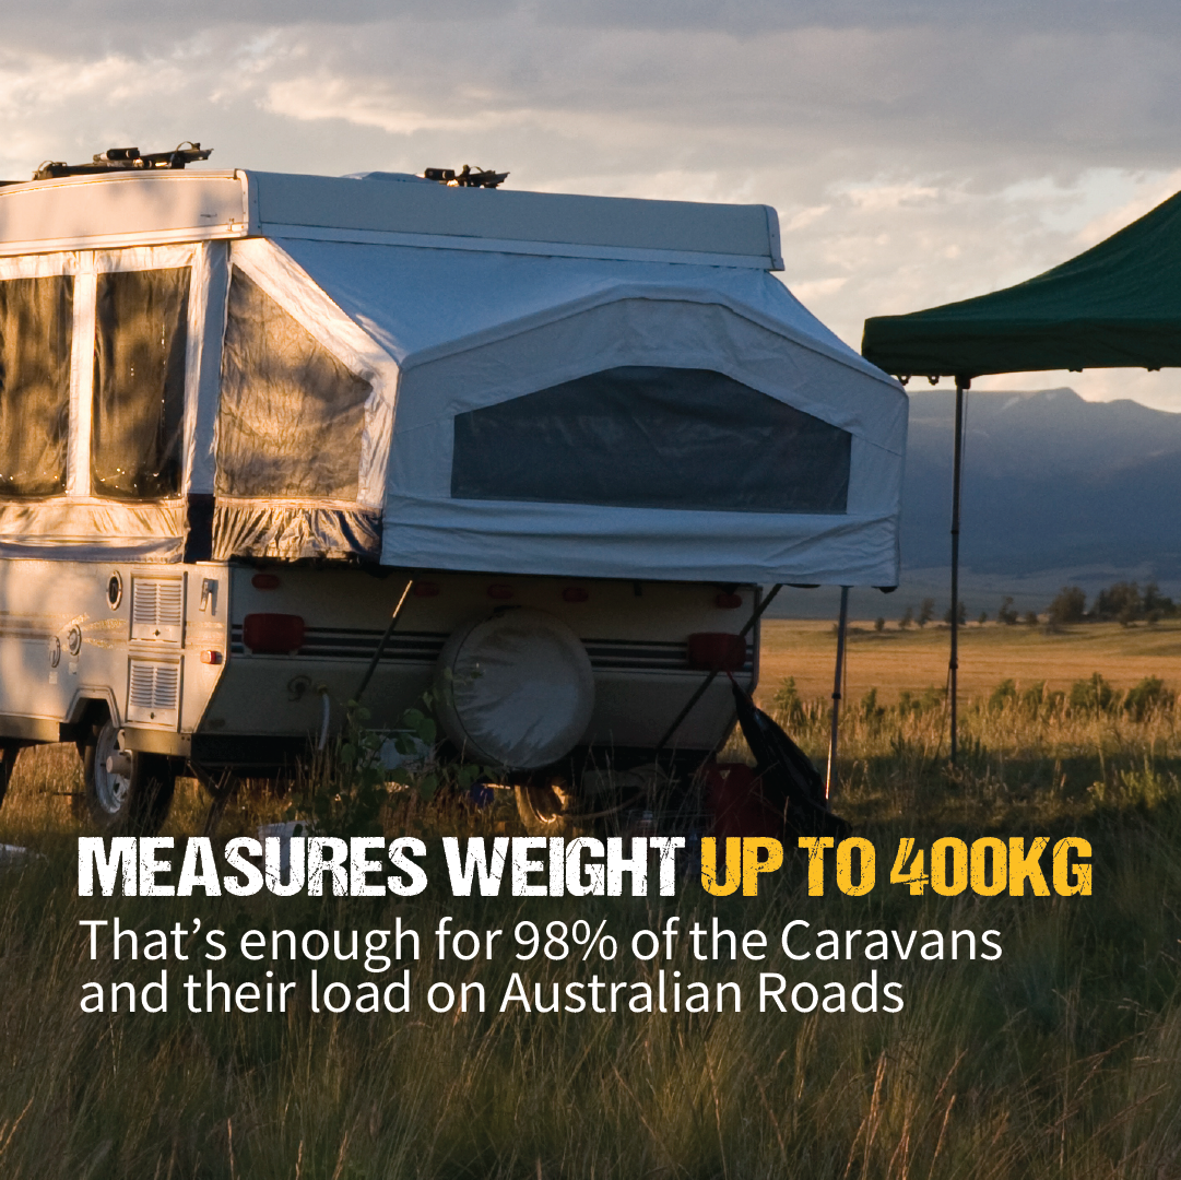
<path fill-rule="evenodd" d="M 703 670 L 689 666 L 690 635 L 737 632 L 758 601 L 752 586 L 413 576 L 365 690 L 368 724 L 398 728 L 431 690 L 438 653 L 461 624 L 518 606 L 542 609 L 579 635 L 594 670 L 590 726 L 561 767 L 575 783 L 583 767 L 626 771 L 651 762 L 702 682 Z M 0 560 L 0 793 L 20 748 L 74 742 L 99 824 L 146 829 L 163 822 L 185 769 L 205 783 L 226 770 L 242 777 L 291 770 L 340 732 L 410 578 L 385 567 Z M 265 637 L 263 648 L 282 646 L 282 620 L 299 620 L 300 641 L 291 651 L 252 650 L 248 617 L 279 620 L 279 639 Z M 737 677 L 748 689 L 757 682 L 757 630 L 751 638 Z M 665 757 L 696 765 L 732 723 L 730 686 L 719 678 Z"/>

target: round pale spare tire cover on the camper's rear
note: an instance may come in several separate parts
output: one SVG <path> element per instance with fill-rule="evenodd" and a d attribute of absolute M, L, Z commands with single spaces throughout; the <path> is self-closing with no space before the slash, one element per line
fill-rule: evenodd
<path fill-rule="evenodd" d="M 454 632 L 436 669 L 438 717 L 469 758 L 534 770 L 590 724 L 594 673 L 582 641 L 544 611 L 505 611 Z"/>

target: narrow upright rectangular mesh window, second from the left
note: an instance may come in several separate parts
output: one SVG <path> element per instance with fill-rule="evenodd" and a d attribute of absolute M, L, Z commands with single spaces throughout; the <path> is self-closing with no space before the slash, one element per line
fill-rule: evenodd
<path fill-rule="evenodd" d="M 98 276 L 91 485 L 112 500 L 181 490 L 189 269 Z"/>

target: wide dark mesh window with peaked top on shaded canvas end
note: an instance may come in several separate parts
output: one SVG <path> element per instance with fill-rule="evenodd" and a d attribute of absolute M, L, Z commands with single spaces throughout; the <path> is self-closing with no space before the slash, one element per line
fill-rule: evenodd
<path fill-rule="evenodd" d="M 706 369 L 608 369 L 455 419 L 451 495 L 843 513 L 850 436 Z"/>

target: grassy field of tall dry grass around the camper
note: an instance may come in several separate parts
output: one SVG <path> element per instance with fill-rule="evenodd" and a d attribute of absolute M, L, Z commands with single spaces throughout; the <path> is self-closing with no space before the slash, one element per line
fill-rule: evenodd
<path fill-rule="evenodd" d="M 879 885 L 864 897 L 831 882 L 809 897 L 805 865 L 789 855 L 758 898 L 710 898 L 689 881 L 674 899 L 456 899 L 441 887 L 431 842 L 432 887 L 407 900 L 79 899 L 79 829 L 63 794 L 77 785 L 76 759 L 60 749 L 22 759 L 0 841 L 45 859 L 0 873 L 0 1175 L 1179 1175 L 1181 713 L 1167 697 L 1129 710 L 1122 696 L 1147 676 L 1176 687 L 1169 659 L 1179 643 L 1181 632 L 1163 625 L 1052 635 L 970 628 L 964 758 L 952 772 L 945 703 L 921 691 L 942 683 L 946 631 L 855 635 L 837 810 L 879 848 Z M 830 628 L 788 622 L 765 632 L 765 699 L 777 696 L 772 708 L 817 759 L 827 706 L 814 698 L 830 690 L 831 646 Z M 1120 691 L 1071 705 L 1071 685 L 1095 671 Z M 798 695 L 777 693 L 787 674 Z M 1023 696 L 1014 685 L 990 703 L 1004 679 L 1020 690 L 1045 680 L 1049 691 Z M 1053 696 L 1056 687 L 1068 695 Z M 900 700 L 903 689 L 911 695 Z M 740 757 L 740 745 L 729 755 Z M 285 806 L 243 798 L 223 833 L 248 832 Z M 202 807 L 185 785 L 168 830 L 197 830 Z M 429 841 L 445 830 L 514 830 L 504 806 L 476 813 L 448 800 L 399 802 L 385 826 Z M 983 835 L 1085 837 L 1092 895 L 912 897 L 886 880 L 901 836 L 926 846 Z M 739 934 L 768 932 L 772 953 L 763 964 L 699 963 L 681 940 L 671 959 L 607 971 L 632 982 L 660 969 L 711 985 L 733 980 L 740 1012 L 541 1015 L 513 1005 L 501 1013 L 495 1000 L 511 972 L 548 986 L 585 980 L 593 967 L 511 954 L 487 964 L 424 959 L 407 1015 L 79 1010 L 83 983 L 112 973 L 86 958 L 81 919 L 118 915 L 143 932 L 200 917 L 240 932 L 364 931 L 402 918 L 426 935 L 442 914 L 457 927 L 505 931 L 523 918 L 606 920 L 620 935 L 671 914 L 683 930 L 717 918 Z M 894 1015 L 759 1012 L 761 971 L 822 989 L 868 977 L 864 959 L 787 960 L 774 948 L 794 919 L 903 939 L 991 928 L 1004 954 L 873 964 L 902 985 L 906 1005 Z M 224 977 L 257 978 L 262 966 L 227 965 Z M 123 970 L 137 982 L 158 976 L 156 964 Z M 360 978 L 355 964 L 333 970 Z M 485 1012 L 425 1005 L 428 983 L 458 989 L 477 976 Z"/>

